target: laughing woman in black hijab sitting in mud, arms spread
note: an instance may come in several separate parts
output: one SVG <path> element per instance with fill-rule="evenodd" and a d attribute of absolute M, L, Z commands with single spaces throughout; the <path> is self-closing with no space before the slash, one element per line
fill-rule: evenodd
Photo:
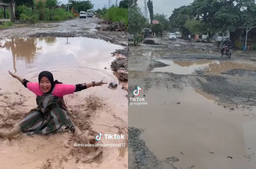
<path fill-rule="evenodd" d="M 53 80 L 53 75 L 49 71 L 42 71 L 38 76 L 39 83 L 29 82 L 14 75 L 9 71 L 9 74 L 17 78 L 22 85 L 36 94 L 37 108 L 32 109 L 22 119 L 17 126 L 13 127 L 9 132 L 0 131 L 0 138 L 10 138 L 20 132 L 27 136 L 35 134 L 48 135 L 69 129 L 78 139 L 80 143 L 96 143 L 95 137 L 92 136 L 92 131 L 82 133 L 81 130 L 74 124 L 71 119 L 63 96 L 79 92 L 89 87 L 102 86 L 107 84 L 103 82 L 84 83 L 77 85 L 66 85 Z M 97 142 L 99 143 L 99 142 Z M 92 157 L 101 154 L 101 147 L 89 148 Z"/>

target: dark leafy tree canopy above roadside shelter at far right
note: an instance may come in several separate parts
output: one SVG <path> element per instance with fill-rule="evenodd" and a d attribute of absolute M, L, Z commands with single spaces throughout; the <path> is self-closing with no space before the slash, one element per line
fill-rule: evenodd
<path fill-rule="evenodd" d="M 202 20 L 208 33 L 235 31 L 240 25 L 255 24 L 254 0 L 195 0 L 192 14 Z"/>

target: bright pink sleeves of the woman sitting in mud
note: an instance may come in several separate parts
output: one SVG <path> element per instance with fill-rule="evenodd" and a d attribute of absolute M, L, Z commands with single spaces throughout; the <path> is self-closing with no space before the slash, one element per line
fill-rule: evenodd
<path fill-rule="evenodd" d="M 28 82 L 27 88 L 37 96 L 42 96 L 44 92 L 40 89 L 39 83 Z M 67 94 L 72 94 L 76 90 L 76 85 L 56 84 L 52 90 L 52 95 L 62 97 Z"/>

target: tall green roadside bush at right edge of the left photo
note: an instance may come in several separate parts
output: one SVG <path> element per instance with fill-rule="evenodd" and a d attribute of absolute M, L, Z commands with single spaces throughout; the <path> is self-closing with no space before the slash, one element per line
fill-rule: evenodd
<path fill-rule="evenodd" d="M 104 19 L 112 22 L 123 21 L 128 26 L 128 9 L 112 7 L 104 14 Z"/>

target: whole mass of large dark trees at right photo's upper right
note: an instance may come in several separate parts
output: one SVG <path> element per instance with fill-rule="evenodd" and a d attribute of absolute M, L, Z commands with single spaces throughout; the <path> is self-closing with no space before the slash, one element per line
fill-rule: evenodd
<path fill-rule="evenodd" d="M 169 20 L 170 30 L 180 30 L 185 36 L 234 33 L 239 26 L 255 26 L 256 4 L 254 0 L 194 0 L 190 5 L 174 9 Z"/>

